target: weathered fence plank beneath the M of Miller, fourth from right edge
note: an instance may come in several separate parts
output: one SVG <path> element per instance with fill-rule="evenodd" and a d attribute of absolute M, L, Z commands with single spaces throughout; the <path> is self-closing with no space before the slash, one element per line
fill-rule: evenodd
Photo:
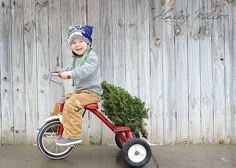
<path fill-rule="evenodd" d="M 196 11 L 200 9 L 199 1 L 190 1 L 187 7 L 188 19 L 188 78 L 189 78 L 189 143 L 201 143 L 201 113 L 200 113 L 200 26 L 196 19 Z"/>

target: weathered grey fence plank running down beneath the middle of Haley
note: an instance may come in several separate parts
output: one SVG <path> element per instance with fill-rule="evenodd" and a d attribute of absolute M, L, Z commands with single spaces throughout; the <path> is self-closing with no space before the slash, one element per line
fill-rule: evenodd
<path fill-rule="evenodd" d="M 162 4 L 163 10 L 170 10 L 173 1 L 165 0 Z M 174 10 L 170 12 L 173 14 Z M 163 111 L 164 111 L 164 143 L 174 144 L 176 142 L 176 58 L 174 53 L 174 26 L 171 19 L 163 19 Z"/>

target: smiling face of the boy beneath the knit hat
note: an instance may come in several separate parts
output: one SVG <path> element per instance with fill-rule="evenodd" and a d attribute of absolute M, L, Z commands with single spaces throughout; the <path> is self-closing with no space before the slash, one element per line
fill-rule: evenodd
<path fill-rule="evenodd" d="M 88 48 L 88 44 L 85 41 L 81 40 L 81 39 L 75 38 L 72 41 L 70 47 L 71 47 L 71 50 L 74 53 L 76 53 L 77 55 L 83 55 L 84 52 Z"/>

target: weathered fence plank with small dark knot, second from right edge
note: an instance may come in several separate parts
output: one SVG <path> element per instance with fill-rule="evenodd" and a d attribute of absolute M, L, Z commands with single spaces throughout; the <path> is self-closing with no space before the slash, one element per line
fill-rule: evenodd
<path fill-rule="evenodd" d="M 212 9 L 223 10 L 223 1 L 213 0 Z M 225 141 L 224 19 L 214 19 L 212 29 L 214 142 Z"/>

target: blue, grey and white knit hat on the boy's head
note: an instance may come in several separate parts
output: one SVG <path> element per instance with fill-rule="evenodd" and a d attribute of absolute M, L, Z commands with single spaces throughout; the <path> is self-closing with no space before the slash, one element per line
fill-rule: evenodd
<path fill-rule="evenodd" d="M 68 32 L 68 43 L 71 44 L 75 38 L 79 38 L 89 45 L 92 44 L 92 33 L 93 26 L 83 25 L 83 26 L 74 26 L 69 29 Z"/>

